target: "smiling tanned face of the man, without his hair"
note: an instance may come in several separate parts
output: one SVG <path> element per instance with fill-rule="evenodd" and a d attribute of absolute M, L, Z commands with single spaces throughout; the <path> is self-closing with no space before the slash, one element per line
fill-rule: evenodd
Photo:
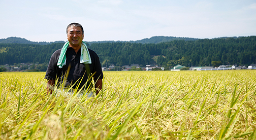
<path fill-rule="evenodd" d="M 68 41 L 70 47 L 79 47 L 83 41 L 83 33 L 81 27 L 70 26 L 68 28 Z"/>

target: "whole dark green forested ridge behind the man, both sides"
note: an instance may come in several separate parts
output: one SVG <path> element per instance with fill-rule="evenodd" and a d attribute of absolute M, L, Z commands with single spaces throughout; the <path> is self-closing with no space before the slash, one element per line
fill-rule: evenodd
<path fill-rule="evenodd" d="M 1 44 L 0 65 L 26 62 L 48 63 L 52 53 L 63 43 L 49 45 Z M 162 66 L 205 66 L 220 60 L 222 64 L 256 63 L 256 36 L 240 38 L 175 40 L 157 44 L 130 42 L 94 43 L 102 65 L 159 64 Z"/>

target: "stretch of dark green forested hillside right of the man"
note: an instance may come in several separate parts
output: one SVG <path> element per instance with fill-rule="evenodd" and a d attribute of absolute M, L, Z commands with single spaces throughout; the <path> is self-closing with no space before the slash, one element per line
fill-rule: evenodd
<path fill-rule="evenodd" d="M 158 44 L 101 43 L 90 46 L 103 62 L 115 65 L 151 64 L 162 66 L 249 65 L 256 62 L 256 36 L 240 38 L 175 40 Z"/>

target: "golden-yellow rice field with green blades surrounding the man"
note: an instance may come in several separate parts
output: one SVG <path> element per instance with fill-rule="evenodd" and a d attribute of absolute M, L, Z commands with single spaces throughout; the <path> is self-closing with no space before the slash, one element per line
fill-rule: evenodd
<path fill-rule="evenodd" d="M 98 96 L 0 73 L 0 139 L 256 139 L 256 71 L 104 72 Z"/>

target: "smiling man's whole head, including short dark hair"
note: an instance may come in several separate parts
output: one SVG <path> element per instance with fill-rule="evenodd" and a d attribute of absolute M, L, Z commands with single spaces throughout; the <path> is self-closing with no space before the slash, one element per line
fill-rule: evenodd
<path fill-rule="evenodd" d="M 72 48 L 80 48 L 83 41 L 83 27 L 79 23 L 71 23 L 67 27 L 67 37 Z"/>

